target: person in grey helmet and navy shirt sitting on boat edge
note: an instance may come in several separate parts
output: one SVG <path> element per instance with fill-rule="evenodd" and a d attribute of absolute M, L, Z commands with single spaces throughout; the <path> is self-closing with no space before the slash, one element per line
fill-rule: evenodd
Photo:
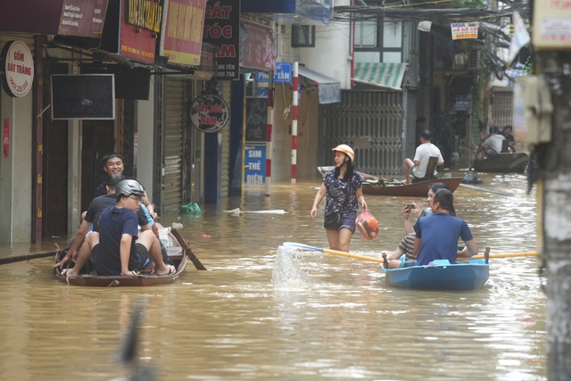
<path fill-rule="evenodd" d="M 99 231 L 87 236 L 75 266 L 64 269 L 62 275 L 77 276 L 92 254 L 95 271 L 100 276 L 133 276 L 136 271 L 146 269 L 153 269 L 159 276 L 175 273 L 174 266 L 162 260 L 159 239 L 153 232 L 138 232 L 136 212 L 145 195 L 143 186 L 137 180 L 123 180 L 116 186 L 115 193 L 117 203 L 101 213 Z"/>

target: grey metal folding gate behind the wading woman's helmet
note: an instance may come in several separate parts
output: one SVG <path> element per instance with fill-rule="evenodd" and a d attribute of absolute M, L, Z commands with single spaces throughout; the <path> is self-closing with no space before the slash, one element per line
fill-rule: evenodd
<path fill-rule="evenodd" d="M 332 165 L 331 148 L 347 144 L 357 170 L 401 176 L 403 118 L 401 92 L 342 91 L 341 103 L 320 107 L 319 162 Z"/>

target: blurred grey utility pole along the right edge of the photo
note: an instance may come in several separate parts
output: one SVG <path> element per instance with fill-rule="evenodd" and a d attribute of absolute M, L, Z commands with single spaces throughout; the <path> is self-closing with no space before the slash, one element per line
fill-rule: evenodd
<path fill-rule="evenodd" d="M 534 1 L 536 72 L 549 94 L 535 92 L 538 108 L 525 112 L 543 111 L 539 118 L 548 120 L 532 132 L 546 137 L 535 145 L 535 173 L 540 178 L 538 249 L 547 274 L 550 381 L 571 379 L 571 30 L 565 25 L 571 25 L 571 0 Z"/>

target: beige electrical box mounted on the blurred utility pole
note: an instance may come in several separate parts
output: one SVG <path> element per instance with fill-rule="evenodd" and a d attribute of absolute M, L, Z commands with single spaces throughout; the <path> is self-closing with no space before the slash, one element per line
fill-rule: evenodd
<path fill-rule="evenodd" d="M 514 137 L 537 145 L 551 140 L 550 87 L 538 76 L 520 77 L 514 85 Z"/>

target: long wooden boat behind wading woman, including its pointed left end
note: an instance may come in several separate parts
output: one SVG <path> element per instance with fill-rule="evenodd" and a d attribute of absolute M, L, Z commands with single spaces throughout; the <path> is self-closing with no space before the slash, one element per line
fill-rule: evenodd
<path fill-rule="evenodd" d="M 321 175 L 329 170 L 333 170 L 333 166 L 318 167 Z M 388 196 L 403 196 L 403 197 L 425 197 L 428 193 L 428 188 L 434 183 L 443 183 L 454 192 L 464 178 L 433 178 L 426 181 L 420 181 L 414 184 L 402 184 L 401 181 L 387 181 L 376 176 L 368 175 L 367 173 L 357 172 L 360 177 L 365 180 L 363 183 L 363 194 L 365 195 L 388 195 Z"/>

